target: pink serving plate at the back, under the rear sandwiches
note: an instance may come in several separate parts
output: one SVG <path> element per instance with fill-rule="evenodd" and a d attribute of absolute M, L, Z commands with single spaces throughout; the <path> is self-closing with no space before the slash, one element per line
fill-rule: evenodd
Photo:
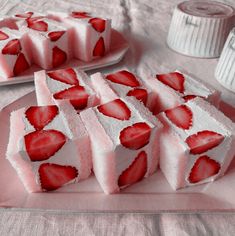
<path fill-rule="evenodd" d="M 105 66 L 110 66 L 118 63 L 124 57 L 125 53 L 128 50 L 128 47 L 129 47 L 128 43 L 124 39 L 122 34 L 113 29 L 111 32 L 110 52 L 107 53 L 104 57 L 93 60 L 91 62 L 83 62 L 77 59 L 72 59 L 67 64 L 61 66 L 60 68 L 72 66 L 88 71 Z M 42 68 L 33 65 L 29 70 L 27 70 L 21 76 L 12 77 L 7 81 L 0 81 L 0 86 L 31 82 L 33 81 L 33 73 L 38 70 L 42 70 Z"/>

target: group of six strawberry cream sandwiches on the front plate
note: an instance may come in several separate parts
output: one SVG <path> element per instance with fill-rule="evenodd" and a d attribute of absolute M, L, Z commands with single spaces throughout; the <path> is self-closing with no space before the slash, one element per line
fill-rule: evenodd
<path fill-rule="evenodd" d="M 38 106 L 11 114 L 7 149 L 29 192 L 59 189 L 93 170 L 106 194 L 117 193 L 158 166 L 179 189 L 214 181 L 234 157 L 235 125 L 216 108 L 220 94 L 180 71 L 140 78 L 125 68 L 90 77 L 43 70 L 35 87 Z"/>

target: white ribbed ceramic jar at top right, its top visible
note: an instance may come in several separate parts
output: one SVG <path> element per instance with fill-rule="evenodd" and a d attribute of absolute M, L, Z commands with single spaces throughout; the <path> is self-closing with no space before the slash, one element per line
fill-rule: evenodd
<path fill-rule="evenodd" d="M 179 53 L 201 58 L 219 57 L 234 26 L 233 7 L 214 1 L 186 1 L 176 6 L 168 46 Z"/>

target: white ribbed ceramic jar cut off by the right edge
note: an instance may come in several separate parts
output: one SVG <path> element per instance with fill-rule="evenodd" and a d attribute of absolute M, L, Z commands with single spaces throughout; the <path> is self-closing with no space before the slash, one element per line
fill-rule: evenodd
<path fill-rule="evenodd" d="M 225 88 L 235 92 L 235 28 L 233 28 L 224 45 L 215 77 Z"/>

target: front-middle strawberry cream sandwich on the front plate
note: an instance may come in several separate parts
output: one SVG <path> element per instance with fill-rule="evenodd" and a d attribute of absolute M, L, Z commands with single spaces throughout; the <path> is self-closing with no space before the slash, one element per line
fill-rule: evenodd
<path fill-rule="evenodd" d="M 91 139 L 95 176 L 107 194 L 153 174 L 161 123 L 134 98 L 115 99 L 80 113 Z"/>

